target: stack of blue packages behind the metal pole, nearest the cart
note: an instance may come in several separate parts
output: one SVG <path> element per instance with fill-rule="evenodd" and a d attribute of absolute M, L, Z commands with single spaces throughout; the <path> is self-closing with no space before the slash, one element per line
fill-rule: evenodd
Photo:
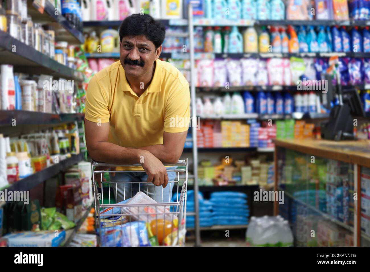
<path fill-rule="evenodd" d="M 172 196 L 172 201 L 176 201 L 176 194 Z M 199 226 L 213 226 L 212 203 L 203 198 L 202 192 L 198 192 L 199 201 Z M 171 210 L 171 209 L 170 209 Z M 189 190 L 186 194 L 186 213 L 194 212 L 194 190 Z M 186 216 L 186 227 L 195 227 L 195 216 Z"/>

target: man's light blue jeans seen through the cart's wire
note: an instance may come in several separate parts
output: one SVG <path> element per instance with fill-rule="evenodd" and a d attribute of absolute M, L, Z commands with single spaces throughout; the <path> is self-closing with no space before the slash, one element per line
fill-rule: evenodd
<path fill-rule="evenodd" d="M 167 167 L 168 170 L 174 170 L 177 166 Z M 168 172 L 168 181 L 174 181 L 176 179 L 177 172 Z M 114 176 L 110 174 L 112 182 L 128 182 L 128 181 L 147 181 L 148 175 L 145 172 L 118 172 Z M 114 185 L 114 191 L 116 191 Z M 171 202 L 172 189 L 174 188 L 174 182 L 168 182 L 166 188 L 161 186 L 155 186 L 152 183 L 117 183 L 117 202 L 121 202 L 127 198 L 133 197 L 138 192 L 144 192 L 149 197 L 154 199 L 156 202 Z M 162 194 L 163 191 L 163 194 Z"/>

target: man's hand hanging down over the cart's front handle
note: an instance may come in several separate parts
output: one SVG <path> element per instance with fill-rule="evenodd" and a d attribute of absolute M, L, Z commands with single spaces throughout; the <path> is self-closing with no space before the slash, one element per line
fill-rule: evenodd
<path fill-rule="evenodd" d="M 155 186 L 163 185 L 163 188 L 166 188 L 168 184 L 167 170 L 159 159 L 150 152 L 146 152 L 144 162 L 141 165 L 148 175 L 148 182 L 152 182 Z"/>

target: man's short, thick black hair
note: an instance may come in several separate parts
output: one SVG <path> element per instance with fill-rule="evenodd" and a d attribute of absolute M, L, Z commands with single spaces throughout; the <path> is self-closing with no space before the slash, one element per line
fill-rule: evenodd
<path fill-rule="evenodd" d="M 164 41 L 166 30 L 160 20 L 155 20 L 149 14 L 132 14 L 122 21 L 120 26 L 120 41 L 125 36 L 145 35 L 154 43 L 157 49 Z"/>

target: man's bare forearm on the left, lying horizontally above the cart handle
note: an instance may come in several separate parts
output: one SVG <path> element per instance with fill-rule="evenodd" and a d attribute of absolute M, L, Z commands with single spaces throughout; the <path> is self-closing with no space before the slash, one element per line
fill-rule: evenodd
<path fill-rule="evenodd" d="M 148 154 L 146 150 L 121 147 L 111 142 L 97 142 L 94 148 L 90 148 L 88 152 L 95 161 L 109 164 L 138 164 L 141 156 L 145 158 L 145 155 Z"/>

